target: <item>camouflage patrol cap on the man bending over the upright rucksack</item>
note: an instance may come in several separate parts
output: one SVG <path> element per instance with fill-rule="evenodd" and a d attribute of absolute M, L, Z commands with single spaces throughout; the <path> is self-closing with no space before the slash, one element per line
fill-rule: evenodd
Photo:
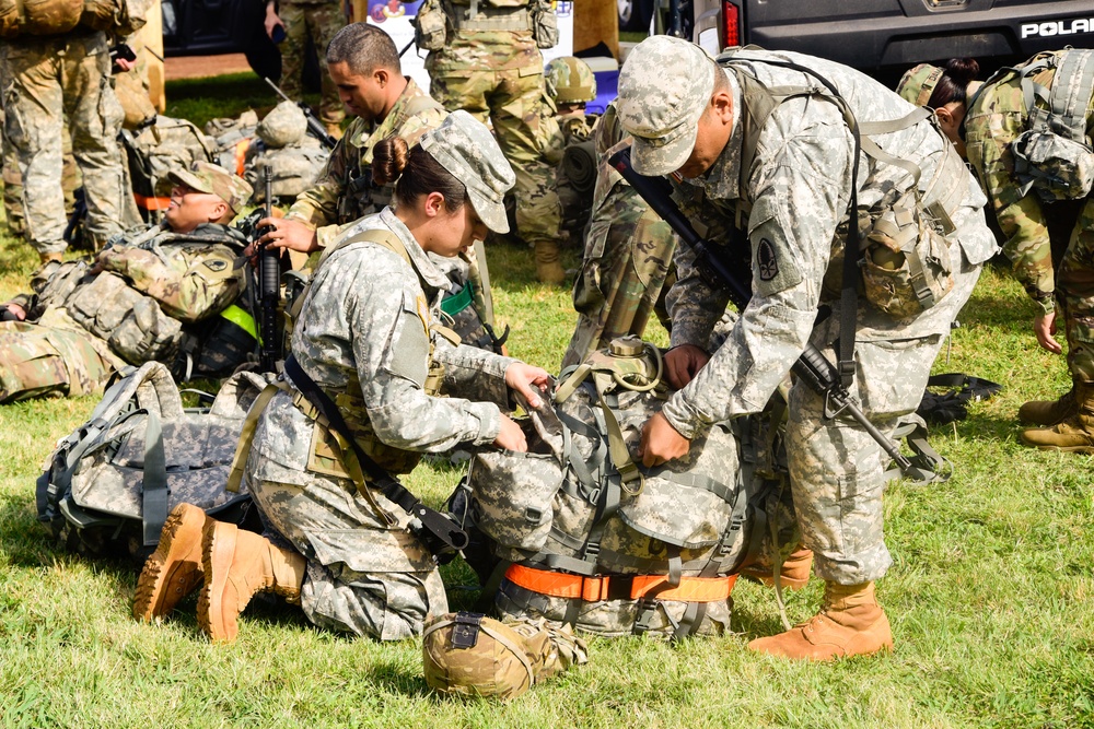
<path fill-rule="evenodd" d="M 616 111 L 635 138 L 636 172 L 667 175 L 687 161 L 714 92 L 715 68 L 702 48 L 667 35 L 647 38 L 630 51 L 619 72 Z"/>

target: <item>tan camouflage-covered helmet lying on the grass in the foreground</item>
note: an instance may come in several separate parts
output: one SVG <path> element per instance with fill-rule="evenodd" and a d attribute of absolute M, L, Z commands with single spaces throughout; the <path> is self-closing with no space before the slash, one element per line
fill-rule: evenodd
<path fill-rule="evenodd" d="M 449 613 L 422 635 L 426 683 L 446 695 L 508 701 L 586 662 L 584 640 L 543 620 L 503 623 L 479 613 Z"/>

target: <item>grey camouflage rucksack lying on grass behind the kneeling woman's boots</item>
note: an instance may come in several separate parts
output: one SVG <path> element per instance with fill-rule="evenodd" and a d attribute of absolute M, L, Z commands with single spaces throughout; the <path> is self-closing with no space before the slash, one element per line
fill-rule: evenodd
<path fill-rule="evenodd" d="M 140 560 L 181 503 L 242 522 L 251 497 L 224 483 L 243 420 L 265 387 L 260 375 L 242 373 L 206 396 L 210 407 L 183 408 L 164 365 L 130 368 L 50 454 L 37 482 L 38 519 L 69 549 Z"/>

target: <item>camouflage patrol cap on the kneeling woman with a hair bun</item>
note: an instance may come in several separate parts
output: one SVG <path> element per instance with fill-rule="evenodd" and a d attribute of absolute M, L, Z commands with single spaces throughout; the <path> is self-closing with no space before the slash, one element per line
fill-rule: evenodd
<path fill-rule="evenodd" d="M 467 188 L 472 207 L 494 233 L 509 233 L 505 192 L 516 175 L 490 130 L 467 111 L 453 111 L 418 142 Z"/>

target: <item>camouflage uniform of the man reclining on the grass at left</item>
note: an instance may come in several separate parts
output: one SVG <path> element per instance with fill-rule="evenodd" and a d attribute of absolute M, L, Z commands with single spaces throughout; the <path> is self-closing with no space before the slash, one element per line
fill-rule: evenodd
<path fill-rule="evenodd" d="M 26 321 L 0 322 L 0 402 L 84 395 L 127 362 L 171 364 L 183 324 L 206 321 L 238 297 L 244 273 L 233 263 L 246 243 L 224 225 L 182 239 L 156 226 L 112 239 L 101 273 L 83 261 L 47 264 L 35 293 L 13 299 Z"/>

